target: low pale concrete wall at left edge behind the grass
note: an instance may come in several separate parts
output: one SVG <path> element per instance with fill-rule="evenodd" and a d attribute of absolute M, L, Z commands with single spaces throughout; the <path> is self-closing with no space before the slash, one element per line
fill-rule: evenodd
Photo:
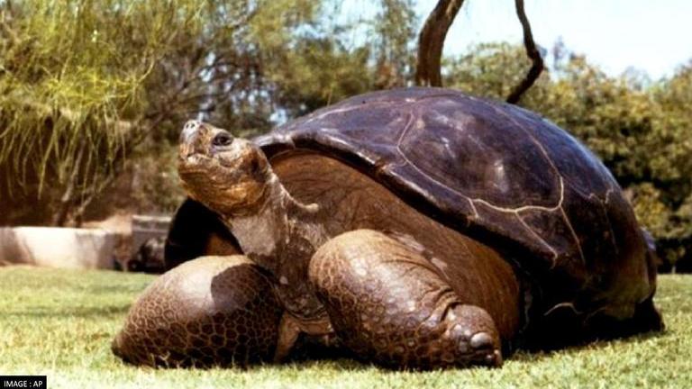
<path fill-rule="evenodd" d="M 113 268 L 113 233 L 52 227 L 1 227 L 0 265 Z"/>

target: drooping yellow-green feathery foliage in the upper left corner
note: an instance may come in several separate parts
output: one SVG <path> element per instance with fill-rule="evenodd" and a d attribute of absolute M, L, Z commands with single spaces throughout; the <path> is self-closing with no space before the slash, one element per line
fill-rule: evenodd
<path fill-rule="evenodd" d="M 45 184 L 49 195 L 62 186 L 66 206 L 103 191 L 150 128 L 150 75 L 183 35 L 204 31 L 201 11 L 192 2 L 0 4 L 5 187 L 41 197 Z"/>

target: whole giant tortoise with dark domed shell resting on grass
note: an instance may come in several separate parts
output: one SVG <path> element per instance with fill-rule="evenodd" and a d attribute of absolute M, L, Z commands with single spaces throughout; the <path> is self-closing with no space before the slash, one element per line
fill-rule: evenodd
<path fill-rule="evenodd" d="M 150 286 L 114 340 L 132 363 L 278 360 L 301 336 L 381 366 L 499 366 L 517 347 L 662 328 L 620 187 L 535 113 L 406 88 L 254 140 L 191 121 L 180 141 L 190 200 L 167 260 L 228 257 Z"/>

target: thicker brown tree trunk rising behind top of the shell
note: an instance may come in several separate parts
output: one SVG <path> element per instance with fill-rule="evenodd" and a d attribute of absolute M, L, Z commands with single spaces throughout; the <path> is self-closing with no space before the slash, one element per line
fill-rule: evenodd
<path fill-rule="evenodd" d="M 442 46 L 454 17 L 464 0 L 440 0 L 423 25 L 418 36 L 418 63 L 415 68 L 415 84 L 442 86 L 440 64 Z"/>

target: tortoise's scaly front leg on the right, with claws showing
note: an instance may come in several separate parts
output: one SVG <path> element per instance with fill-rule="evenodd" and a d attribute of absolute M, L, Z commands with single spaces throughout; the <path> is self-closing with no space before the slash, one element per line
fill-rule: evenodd
<path fill-rule="evenodd" d="M 502 364 L 490 315 L 460 301 L 426 258 L 383 233 L 328 241 L 309 276 L 336 334 L 359 357 L 411 368 Z"/>

